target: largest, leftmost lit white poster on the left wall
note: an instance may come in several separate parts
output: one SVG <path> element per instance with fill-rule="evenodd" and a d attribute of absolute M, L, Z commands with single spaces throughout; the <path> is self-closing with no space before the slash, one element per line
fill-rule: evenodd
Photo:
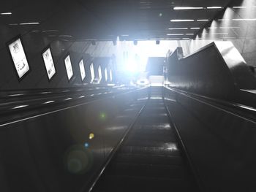
<path fill-rule="evenodd" d="M 10 53 L 12 55 L 12 61 L 15 65 L 15 69 L 18 73 L 18 76 L 23 77 L 26 72 L 29 72 L 29 63 L 26 59 L 23 46 L 20 39 L 15 40 L 9 45 Z"/>

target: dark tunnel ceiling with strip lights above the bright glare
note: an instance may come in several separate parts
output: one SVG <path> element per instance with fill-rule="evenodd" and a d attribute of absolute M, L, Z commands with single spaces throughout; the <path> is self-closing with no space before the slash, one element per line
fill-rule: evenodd
<path fill-rule="evenodd" d="M 0 15 L 0 20 L 1 25 L 15 28 L 20 34 L 42 33 L 64 40 L 113 40 L 117 36 L 127 40 L 176 38 L 175 34 L 180 32 L 171 28 L 187 28 L 182 38 L 192 38 L 208 20 L 222 12 L 207 7 L 226 7 L 228 3 L 230 0 L 4 0 L 1 13 L 12 14 Z"/>

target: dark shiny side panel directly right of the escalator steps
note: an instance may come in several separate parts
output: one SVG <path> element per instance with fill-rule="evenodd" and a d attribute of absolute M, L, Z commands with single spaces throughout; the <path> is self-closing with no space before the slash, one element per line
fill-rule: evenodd
<path fill-rule="evenodd" d="M 255 191 L 256 118 L 167 88 L 165 104 L 204 191 Z"/>

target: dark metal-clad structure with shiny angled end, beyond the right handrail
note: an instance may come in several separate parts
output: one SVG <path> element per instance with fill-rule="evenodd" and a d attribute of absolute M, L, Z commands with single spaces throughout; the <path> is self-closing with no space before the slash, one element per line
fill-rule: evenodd
<path fill-rule="evenodd" d="M 213 42 L 186 58 L 167 55 L 167 80 L 173 88 L 255 106 L 256 78 L 231 42 Z"/>

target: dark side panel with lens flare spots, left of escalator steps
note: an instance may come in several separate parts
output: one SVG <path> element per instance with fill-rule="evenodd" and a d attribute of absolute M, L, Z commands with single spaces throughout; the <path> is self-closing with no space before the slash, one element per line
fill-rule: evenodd
<path fill-rule="evenodd" d="M 1 191 L 86 190 L 146 102 L 135 92 L 2 126 Z"/>

